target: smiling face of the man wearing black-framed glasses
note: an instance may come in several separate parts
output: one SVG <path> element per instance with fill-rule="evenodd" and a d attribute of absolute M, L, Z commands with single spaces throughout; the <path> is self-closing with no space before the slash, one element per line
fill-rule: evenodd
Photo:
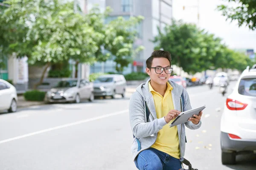
<path fill-rule="evenodd" d="M 154 68 L 152 68 L 152 67 L 154 67 Z M 167 71 L 165 72 L 164 70 L 161 74 L 157 74 L 155 71 L 155 67 L 158 67 L 158 68 L 171 67 L 169 60 L 167 58 L 163 58 L 163 57 L 154 58 L 152 61 L 151 68 L 146 68 L 146 71 L 147 71 L 148 75 L 150 76 L 151 82 L 154 82 L 158 85 L 166 85 L 171 74 L 166 74 Z M 159 70 L 157 72 L 159 72 Z"/>

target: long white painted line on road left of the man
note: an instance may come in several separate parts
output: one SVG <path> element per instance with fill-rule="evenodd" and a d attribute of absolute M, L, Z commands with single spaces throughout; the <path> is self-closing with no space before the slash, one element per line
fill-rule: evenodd
<path fill-rule="evenodd" d="M 98 116 L 98 117 L 93 117 L 93 118 L 90 118 L 90 119 L 84 119 L 84 120 L 80 120 L 80 121 L 73 122 L 73 123 L 68 123 L 68 124 L 61 125 L 61 126 L 56 126 L 56 127 L 51 127 L 51 128 L 44 129 L 44 130 L 39 130 L 39 131 L 36 131 L 36 132 L 28 133 L 28 134 L 25 134 L 25 135 L 14 137 L 14 138 L 2 140 L 2 141 L 0 141 L 0 144 L 10 142 L 10 141 L 14 141 L 14 140 L 17 140 L 17 139 L 26 138 L 26 137 L 33 136 L 33 135 L 37 135 L 37 134 L 40 134 L 40 133 L 49 132 L 49 131 L 52 131 L 52 130 L 61 129 L 61 128 L 64 128 L 64 127 L 79 125 L 79 124 L 82 124 L 82 123 L 85 123 L 85 122 L 90 122 L 90 121 L 97 120 L 97 119 L 102 119 L 102 118 L 106 118 L 106 117 L 110 117 L 110 116 L 119 115 L 119 114 L 122 114 L 122 113 L 127 113 L 128 111 L 129 110 L 127 109 L 127 110 L 124 110 L 124 111 L 118 111 L 118 112 L 115 112 L 115 113 L 110 113 L 110 114 L 106 114 L 106 115 L 102 115 L 102 116 Z"/>

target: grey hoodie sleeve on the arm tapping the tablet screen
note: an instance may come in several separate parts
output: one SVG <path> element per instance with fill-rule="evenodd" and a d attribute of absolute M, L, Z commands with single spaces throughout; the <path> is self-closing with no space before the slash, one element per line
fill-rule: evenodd
<path fill-rule="evenodd" d="M 154 119 L 153 122 L 145 121 L 143 97 L 138 92 L 135 92 L 130 98 L 129 118 L 131 129 L 134 136 L 137 138 L 151 136 L 167 124 L 163 117 L 160 119 Z"/>

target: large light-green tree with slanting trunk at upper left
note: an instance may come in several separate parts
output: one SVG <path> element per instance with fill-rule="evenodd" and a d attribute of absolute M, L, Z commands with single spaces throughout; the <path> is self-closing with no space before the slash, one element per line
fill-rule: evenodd
<path fill-rule="evenodd" d="M 74 13 L 73 2 L 59 0 L 7 0 L 0 17 L 0 41 L 6 54 L 27 56 L 30 64 L 45 64 L 41 80 L 51 63 L 68 59 L 92 63 L 102 35 Z M 2 44 L 2 43 L 1 43 Z"/>

